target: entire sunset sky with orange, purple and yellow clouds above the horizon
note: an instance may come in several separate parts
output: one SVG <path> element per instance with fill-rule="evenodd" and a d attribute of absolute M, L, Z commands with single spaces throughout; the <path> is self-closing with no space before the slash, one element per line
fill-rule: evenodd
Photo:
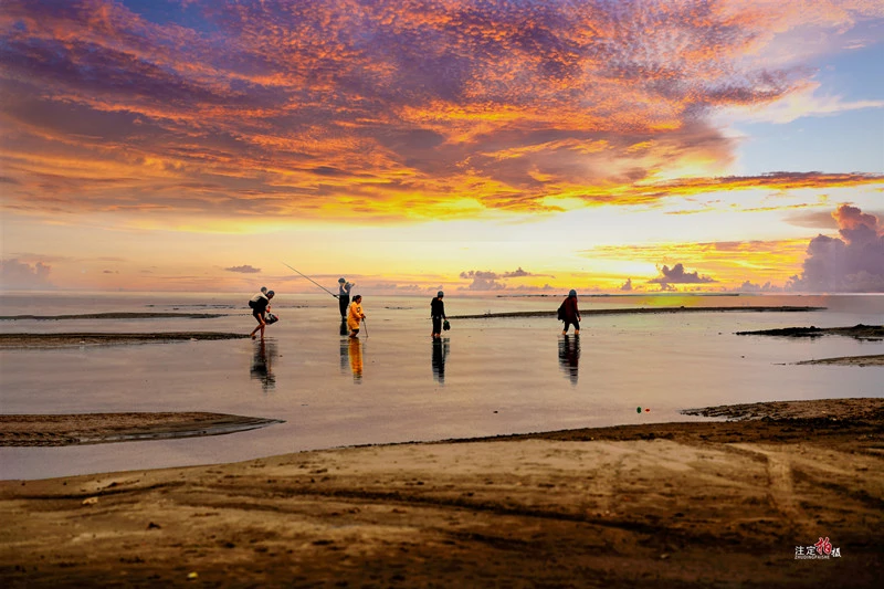
<path fill-rule="evenodd" d="M 881 0 L 3 0 L 3 290 L 884 292 Z"/>

